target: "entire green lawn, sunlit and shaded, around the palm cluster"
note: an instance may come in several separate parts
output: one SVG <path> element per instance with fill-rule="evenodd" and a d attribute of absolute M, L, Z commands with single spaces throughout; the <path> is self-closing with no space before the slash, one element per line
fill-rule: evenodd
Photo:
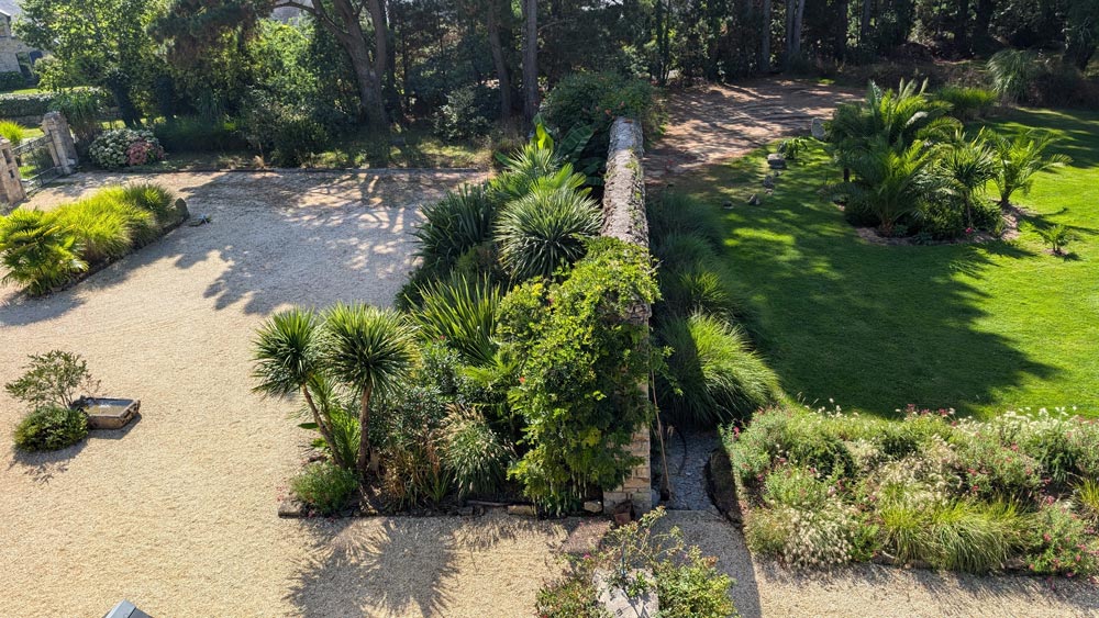
<path fill-rule="evenodd" d="M 1054 131 L 1074 159 L 1015 198 L 1033 216 L 1013 241 L 868 244 L 820 196 L 837 175 L 823 155 L 782 173 L 758 206 L 746 198 L 763 193 L 763 154 L 679 182 L 734 204 L 728 258 L 791 397 L 886 415 L 917 404 L 1099 416 L 1099 113 L 1021 110 L 991 124 Z M 1078 236 L 1067 259 L 1044 252 L 1031 227 L 1053 223 Z"/>

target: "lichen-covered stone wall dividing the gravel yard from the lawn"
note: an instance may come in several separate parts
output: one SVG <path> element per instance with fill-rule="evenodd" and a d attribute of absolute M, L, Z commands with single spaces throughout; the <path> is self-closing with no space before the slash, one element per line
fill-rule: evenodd
<path fill-rule="evenodd" d="M 644 136 L 641 124 L 620 117 L 611 125 L 610 148 L 607 153 L 607 176 L 603 187 L 603 236 L 639 245 L 648 249 L 648 218 L 645 214 L 645 173 L 641 167 Z M 634 307 L 628 319 L 648 326 L 652 307 Z M 640 385 L 648 400 L 648 383 Z M 621 487 L 603 491 L 603 513 L 632 502 L 637 514 L 652 510 L 652 462 L 650 461 L 650 428 L 637 427 L 630 443 L 630 453 L 641 462 L 630 471 Z"/>

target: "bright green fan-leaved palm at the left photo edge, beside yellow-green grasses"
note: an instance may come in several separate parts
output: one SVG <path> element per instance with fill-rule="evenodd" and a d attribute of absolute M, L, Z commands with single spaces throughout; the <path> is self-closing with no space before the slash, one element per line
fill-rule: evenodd
<path fill-rule="evenodd" d="M 0 217 L 0 261 L 4 283 L 16 283 L 32 296 L 45 294 L 88 270 L 76 237 L 56 217 L 16 210 Z"/>

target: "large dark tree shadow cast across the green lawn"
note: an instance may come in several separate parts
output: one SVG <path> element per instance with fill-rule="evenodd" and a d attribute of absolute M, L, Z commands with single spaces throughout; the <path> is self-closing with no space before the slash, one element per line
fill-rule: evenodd
<path fill-rule="evenodd" d="M 712 204 L 755 192 L 762 171 L 744 173 L 744 165 L 702 170 L 687 186 Z M 795 168 L 761 205 L 733 198 L 725 215 L 726 255 L 758 316 L 751 330 L 763 335 L 757 344 L 787 393 L 884 415 L 908 404 L 968 413 L 1025 375 L 1056 374 L 977 327 L 989 317 L 980 279 L 1004 258 L 1032 254 L 1007 243 L 865 243 L 818 194 L 821 178 Z"/>

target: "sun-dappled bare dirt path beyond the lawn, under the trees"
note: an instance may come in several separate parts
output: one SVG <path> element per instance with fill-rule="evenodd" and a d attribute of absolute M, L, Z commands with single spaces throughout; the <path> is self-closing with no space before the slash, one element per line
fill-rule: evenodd
<path fill-rule="evenodd" d="M 839 103 L 861 92 L 812 81 L 707 83 L 668 94 L 664 135 L 645 154 L 651 182 L 744 155 L 784 135 L 809 133 Z"/>

